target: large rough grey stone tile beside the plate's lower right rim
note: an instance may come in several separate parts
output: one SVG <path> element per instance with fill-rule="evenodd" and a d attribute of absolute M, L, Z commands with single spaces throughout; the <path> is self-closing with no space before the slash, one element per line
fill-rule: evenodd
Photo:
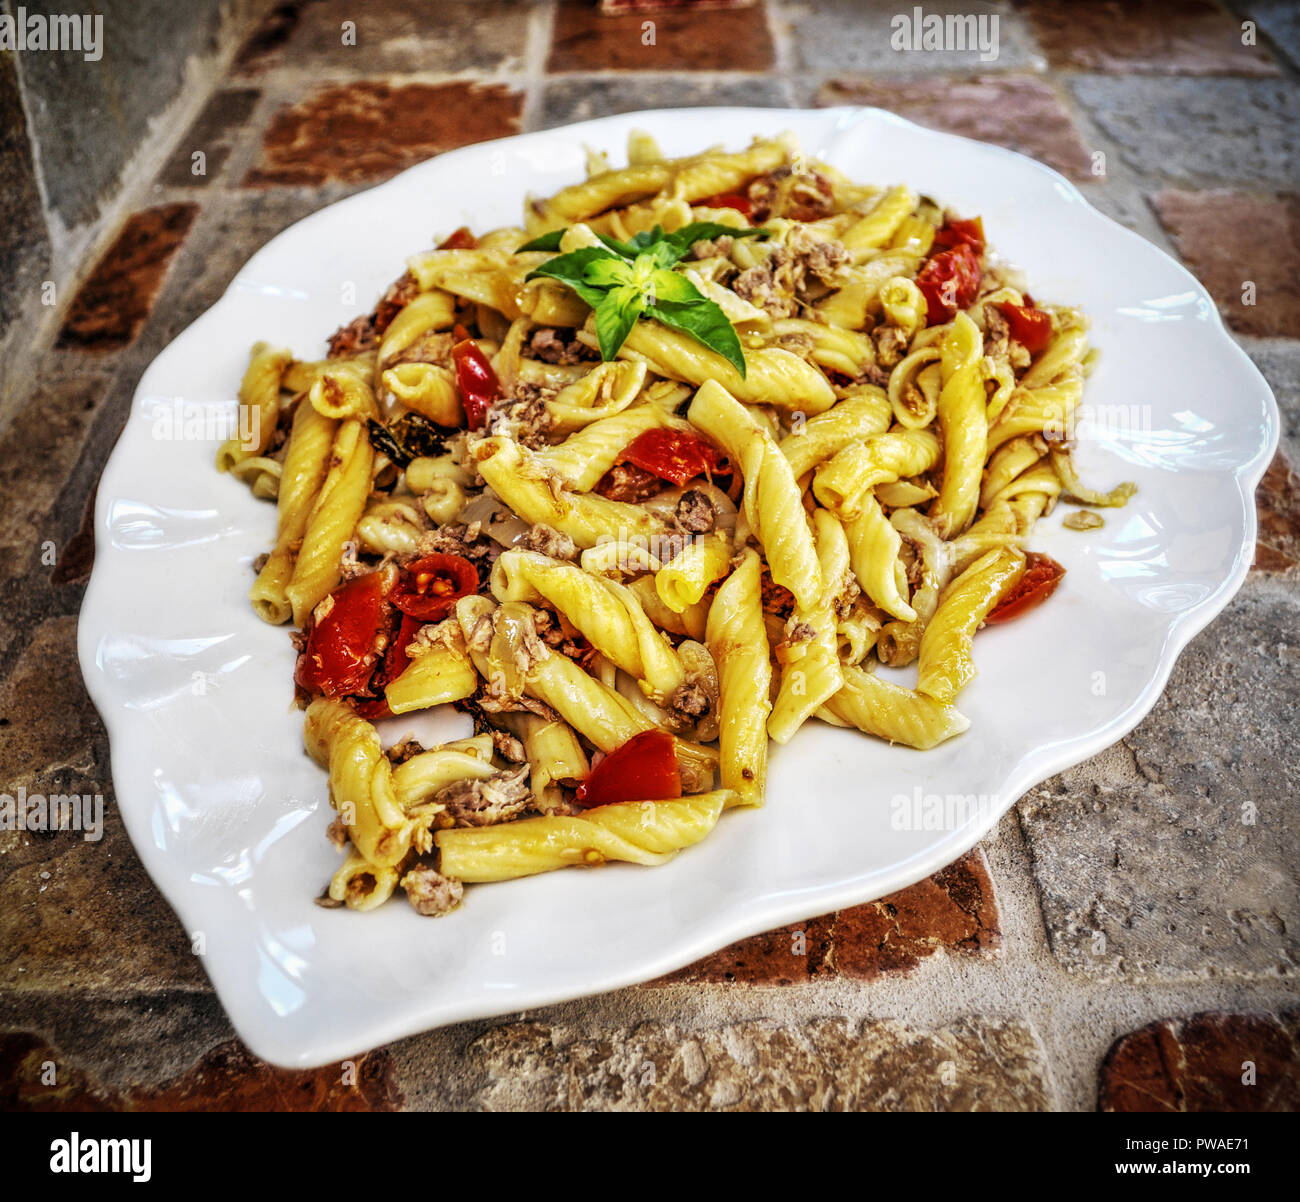
<path fill-rule="evenodd" d="M 1124 743 L 1143 782 L 1056 777 L 1019 803 L 1053 954 L 1097 980 L 1295 973 L 1300 602 L 1254 578 Z"/>

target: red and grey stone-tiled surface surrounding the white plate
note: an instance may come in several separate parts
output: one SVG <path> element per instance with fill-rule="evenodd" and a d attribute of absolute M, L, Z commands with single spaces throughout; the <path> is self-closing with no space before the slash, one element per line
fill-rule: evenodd
<path fill-rule="evenodd" d="M 112 798 L 75 616 L 95 482 L 157 351 L 306 213 L 448 147 L 615 110 L 881 104 L 1078 181 L 1205 282 L 1277 392 L 1254 570 L 1131 735 L 930 880 L 355 1073 L 248 1055 L 110 800 L 99 843 L 0 833 L 0 1107 L 1300 1106 L 1294 6 L 927 5 L 996 14 L 992 62 L 892 51 L 898 6 L 866 0 L 655 13 L 653 45 L 651 18 L 585 3 L 437 8 L 276 5 L 87 264 L 0 433 L 0 791 Z"/>

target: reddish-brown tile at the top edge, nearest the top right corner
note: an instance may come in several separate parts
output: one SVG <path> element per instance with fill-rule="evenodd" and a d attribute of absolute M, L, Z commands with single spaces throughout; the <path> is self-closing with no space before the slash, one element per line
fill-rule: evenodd
<path fill-rule="evenodd" d="M 1277 75 L 1261 45 L 1213 0 L 1020 0 L 1048 64 L 1076 71 L 1154 75 Z"/>

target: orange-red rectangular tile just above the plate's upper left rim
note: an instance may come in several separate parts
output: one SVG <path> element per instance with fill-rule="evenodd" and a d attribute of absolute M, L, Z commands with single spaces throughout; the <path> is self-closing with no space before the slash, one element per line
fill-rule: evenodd
<path fill-rule="evenodd" d="M 441 151 L 516 133 L 521 104 L 504 84 L 325 87 L 272 117 L 244 186 L 384 179 Z"/>

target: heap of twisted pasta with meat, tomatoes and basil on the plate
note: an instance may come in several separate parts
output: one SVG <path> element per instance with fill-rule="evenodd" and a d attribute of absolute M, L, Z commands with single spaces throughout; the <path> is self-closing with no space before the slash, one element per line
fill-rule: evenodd
<path fill-rule="evenodd" d="M 961 735 L 978 632 L 1063 572 L 1035 524 L 1134 491 L 1074 465 L 1084 316 L 978 218 L 785 136 L 588 161 L 412 256 L 325 357 L 252 348 L 216 459 L 276 503 L 250 600 L 295 628 L 321 904 L 663 864 L 810 721 Z M 386 746 L 447 704 L 471 738 Z"/>

